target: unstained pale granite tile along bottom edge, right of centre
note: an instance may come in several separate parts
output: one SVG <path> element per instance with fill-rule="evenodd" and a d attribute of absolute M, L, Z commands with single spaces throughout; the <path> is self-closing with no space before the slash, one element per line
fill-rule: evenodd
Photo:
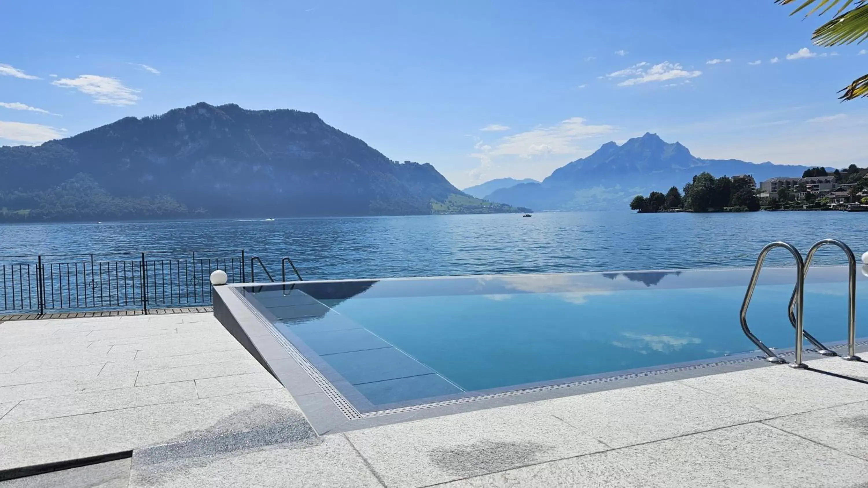
<path fill-rule="evenodd" d="M 444 486 L 863 486 L 868 462 L 760 423 L 464 479 Z M 590 475 L 590 476 L 589 476 Z M 589 479 L 593 482 L 589 483 Z"/>

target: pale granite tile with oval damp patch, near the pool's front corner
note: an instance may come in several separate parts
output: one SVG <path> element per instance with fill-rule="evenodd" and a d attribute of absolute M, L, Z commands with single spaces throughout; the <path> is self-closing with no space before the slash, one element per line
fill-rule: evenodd
<path fill-rule="evenodd" d="M 423 486 L 608 449 L 527 405 L 344 434 L 386 486 Z"/>

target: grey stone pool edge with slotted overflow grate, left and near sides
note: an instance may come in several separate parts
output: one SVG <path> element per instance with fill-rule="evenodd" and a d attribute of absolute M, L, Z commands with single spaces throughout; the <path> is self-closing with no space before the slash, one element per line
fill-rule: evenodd
<path fill-rule="evenodd" d="M 323 280 L 332 281 L 332 280 Z M 353 280 L 355 281 L 355 280 Z M 546 384 L 498 388 L 500 391 L 410 407 L 359 413 L 337 388 L 319 373 L 310 361 L 286 337 L 262 316 L 259 310 L 240 296 L 240 288 L 279 283 L 239 283 L 214 287 L 214 316 L 238 340 L 263 368 L 274 376 L 293 396 L 302 413 L 319 435 L 343 433 L 372 426 L 409 420 L 428 419 L 487 408 L 505 407 L 531 401 L 551 400 L 575 394 L 635 387 L 664 381 L 685 380 L 709 374 L 721 374 L 753 368 L 779 366 L 764 361 L 759 351 L 727 355 L 699 361 L 673 363 L 656 367 L 635 368 L 602 374 L 589 374 Z M 868 338 L 857 341 L 858 351 L 868 350 Z M 846 342 L 829 342 L 828 348 L 846 347 Z M 788 356 L 791 349 L 776 349 Z M 826 356 L 805 349 L 804 361 Z"/>

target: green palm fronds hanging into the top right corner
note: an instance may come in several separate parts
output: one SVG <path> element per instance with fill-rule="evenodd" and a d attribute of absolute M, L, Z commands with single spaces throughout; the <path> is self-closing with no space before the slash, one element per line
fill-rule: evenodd
<path fill-rule="evenodd" d="M 850 44 L 852 42 L 862 42 L 868 39 L 868 2 L 865 0 L 775 0 L 775 3 L 787 5 L 798 1 L 799 8 L 792 11 L 793 15 L 812 3 L 816 6 L 806 16 L 811 16 L 817 10 L 822 9 L 819 15 L 825 14 L 832 10 L 832 7 L 840 4 L 840 8 L 835 11 L 832 20 L 821 25 L 814 30 L 812 41 L 814 44 L 823 47 L 838 46 L 840 44 Z M 847 7 L 855 5 L 851 10 Z M 825 8 L 824 8 L 825 7 Z M 844 92 L 840 96 L 842 100 L 853 100 L 860 96 L 868 96 L 868 75 L 863 75 L 853 80 L 845 88 L 838 91 Z"/>

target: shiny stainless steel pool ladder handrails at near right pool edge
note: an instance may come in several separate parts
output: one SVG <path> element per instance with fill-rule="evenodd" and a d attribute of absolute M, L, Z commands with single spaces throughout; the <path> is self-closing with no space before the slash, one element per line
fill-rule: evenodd
<path fill-rule="evenodd" d="M 795 360 L 790 363 L 791 368 L 799 368 L 804 369 L 807 368 L 807 365 L 802 362 L 802 337 L 811 342 L 815 348 L 817 348 L 817 352 L 820 355 L 828 355 L 834 356 L 836 353 L 832 352 L 829 348 L 826 348 L 822 342 L 819 342 L 813 335 L 809 334 L 804 327 L 804 305 L 805 305 L 805 278 L 807 277 L 808 268 L 811 266 L 811 261 L 813 259 L 814 254 L 819 250 L 819 248 L 823 247 L 826 244 L 836 245 L 844 251 L 847 256 L 848 266 L 848 284 L 849 284 L 849 303 L 848 303 L 848 326 L 849 329 L 847 331 L 847 355 L 845 355 L 842 359 L 846 361 L 861 361 L 861 358 L 856 355 L 856 257 L 853 256 L 853 251 L 847 244 L 842 243 L 838 239 L 823 239 L 819 241 L 817 244 L 813 244 L 811 246 L 811 250 L 808 251 L 808 257 L 806 260 L 802 259 L 802 255 L 799 253 L 799 250 L 795 248 L 792 244 L 776 241 L 771 244 L 767 244 L 762 248 L 762 251 L 759 251 L 759 257 L 757 257 L 757 264 L 753 267 L 753 275 L 751 276 L 751 281 L 747 285 L 747 292 L 745 294 L 745 300 L 741 303 L 741 313 L 740 313 L 740 321 L 741 321 L 741 330 L 744 331 L 747 338 L 750 339 L 756 346 L 766 354 L 766 361 L 784 364 L 786 360 L 779 355 L 773 353 L 772 349 L 766 347 L 766 344 L 763 344 L 756 335 L 753 335 L 751 329 L 747 327 L 747 308 L 750 306 L 751 298 L 753 297 L 753 290 L 756 288 L 757 279 L 759 278 L 759 272 L 762 270 L 762 264 L 766 261 L 766 256 L 769 251 L 772 251 L 776 247 L 782 247 L 786 249 L 786 251 L 790 251 L 792 257 L 796 260 L 796 287 L 792 290 L 792 296 L 790 297 L 790 303 L 787 307 L 788 316 L 790 319 L 790 323 L 792 323 L 793 329 L 796 330 L 796 349 L 795 349 Z"/>

